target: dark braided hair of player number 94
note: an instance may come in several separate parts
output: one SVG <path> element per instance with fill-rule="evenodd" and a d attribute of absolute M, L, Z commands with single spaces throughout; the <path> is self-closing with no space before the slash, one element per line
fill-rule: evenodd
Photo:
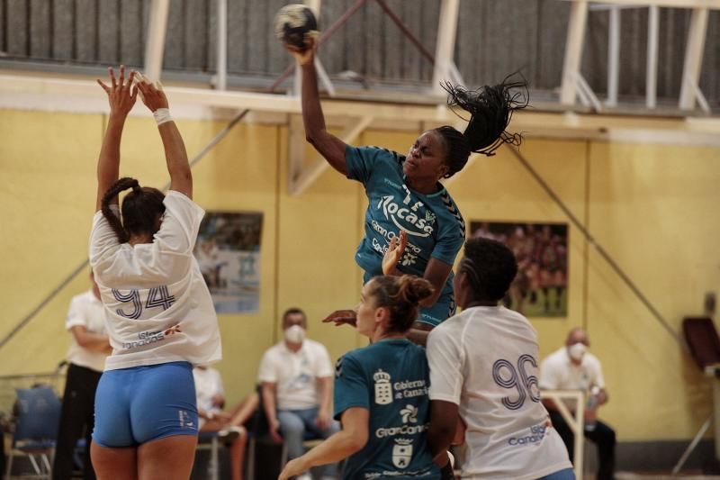
<path fill-rule="evenodd" d="M 110 201 L 123 190 L 132 191 L 122 199 L 122 221 L 110 210 Z M 139 186 L 138 180 L 122 177 L 112 184 L 103 195 L 102 211 L 105 219 L 121 243 L 130 240 L 130 235 L 154 234 L 157 231 L 157 217 L 165 213 L 165 195 L 150 186 Z"/>

